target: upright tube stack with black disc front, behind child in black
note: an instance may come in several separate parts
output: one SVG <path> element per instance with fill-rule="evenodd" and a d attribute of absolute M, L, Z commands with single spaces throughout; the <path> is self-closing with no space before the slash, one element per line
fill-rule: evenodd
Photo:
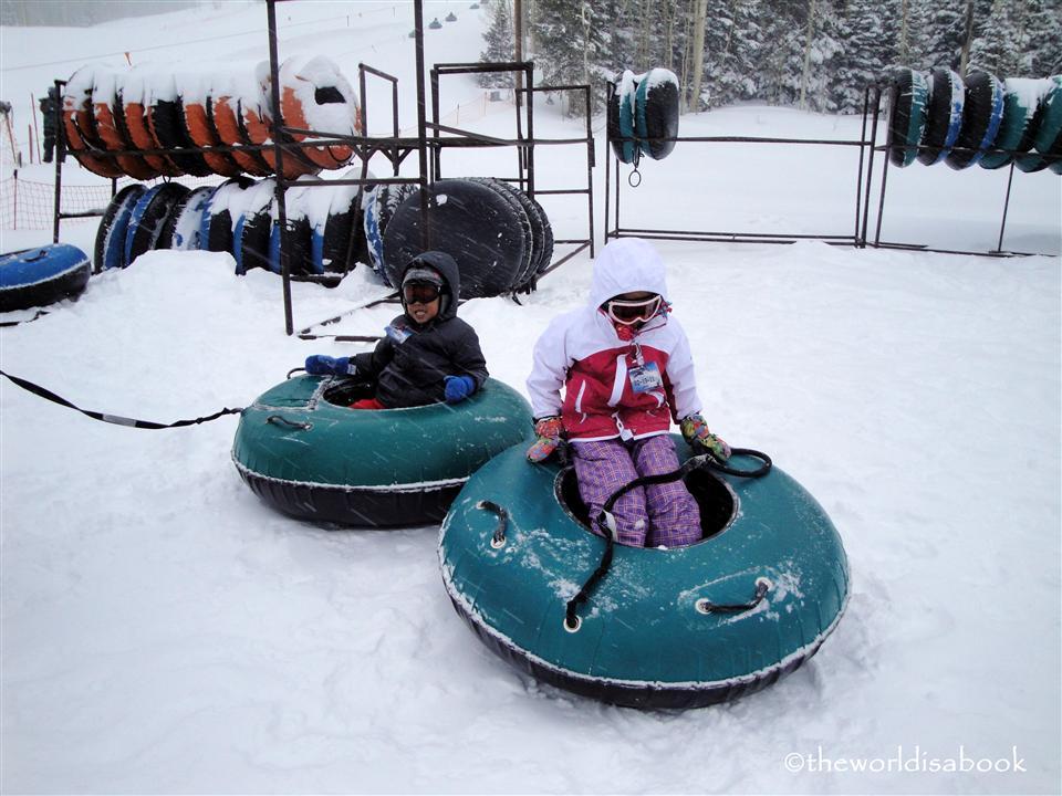
<path fill-rule="evenodd" d="M 457 262 L 461 297 L 530 290 L 553 258 L 542 207 L 500 179 L 444 179 L 428 186 L 430 248 Z M 374 268 L 393 286 L 424 251 L 420 189 L 377 186 L 365 200 L 364 228 Z"/>

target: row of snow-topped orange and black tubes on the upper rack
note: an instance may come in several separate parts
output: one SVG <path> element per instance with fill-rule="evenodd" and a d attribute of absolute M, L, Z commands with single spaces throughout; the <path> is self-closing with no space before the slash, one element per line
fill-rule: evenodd
<path fill-rule="evenodd" d="M 323 56 L 293 56 L 280 65 L 279 80 L 275 122 L 316 132 L 313 138 L 279 134 L 284 177 L 346 165 L 350 146 L 313 144 L 361 130 L 354 90 L 336 65 Z M 88 65 L 66 83 L 62 123 L 74 157 L 104 177 L 263 177 L 277 174 L 271 107 L 264 62 L 235 71 Z"/>

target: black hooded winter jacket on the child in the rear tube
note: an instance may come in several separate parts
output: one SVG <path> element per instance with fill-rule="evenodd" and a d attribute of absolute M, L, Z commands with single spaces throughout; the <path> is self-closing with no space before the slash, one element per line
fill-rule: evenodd
<path fill-rule="evenodd" d="M 391 322 L 387 336 L 372 353 L 352 359 L 356 376 L 376 384 L 376 400 L 388 409 L 444 400 L 445 376 L 471 376 L 479 389 L 488 375 L 476 331 L 457 317 L 457 263 L 444 252 L 425 252 L 416 262 L 442 275 L 444 295 L 448 294 L 445 306 L 423 326 L 403 313 Z"/>

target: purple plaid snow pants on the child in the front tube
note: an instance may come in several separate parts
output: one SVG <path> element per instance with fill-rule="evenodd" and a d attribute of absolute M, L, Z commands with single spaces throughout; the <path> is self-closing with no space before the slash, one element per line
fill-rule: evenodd
<path fill-rule="evenodd" d="M 629 442 L 573 440 L 571 449 L 579 494 L 592 519 L 625 483 L 639 475 L 658 475 L 678 469 L 678 455 L 667 434 Z M 680 547 L 700 540 L 700 509 L 681 481 L 631 490 L 616 501 L 612 513 L 616 517 L 620 544 Z M 591 526 L 597 533 L 593 522 Z"/>

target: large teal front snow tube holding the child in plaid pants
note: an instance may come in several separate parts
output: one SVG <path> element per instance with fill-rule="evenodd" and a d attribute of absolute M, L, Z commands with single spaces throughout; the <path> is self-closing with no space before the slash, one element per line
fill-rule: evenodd
<path fill-rule="evenodd" d="M 759 462 L 736 455 L 731 464 Z M 841 538 L 777 468 L 759 479 L 694 470 L 686 483 L 706 538 L 671 549 L 616 545 L 573 628 L 566 604 L 605 541 L 585 526 L 571 469 L 529 464 L 519 446 L 494 457 L 455 499 L 439 535 L 455 608 L 519 670 L 605 702 L 697 708 L 773 683 L 841 618 Z"/>

